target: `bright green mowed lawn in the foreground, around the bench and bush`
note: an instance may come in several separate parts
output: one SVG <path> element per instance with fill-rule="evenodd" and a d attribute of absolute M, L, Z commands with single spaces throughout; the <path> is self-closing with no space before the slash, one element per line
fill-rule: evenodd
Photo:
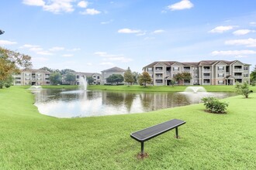
<path fill-rule="evenodd" d="M 227 114 L 202 104 L 144 114 L 59 119 L 33 106 L 21 87 L 0 90 L 0 169 L 255 169 L 256 93 L 225 99 Z M 186 121 L 140 143 L 130 133 L 170 119 Z"/>

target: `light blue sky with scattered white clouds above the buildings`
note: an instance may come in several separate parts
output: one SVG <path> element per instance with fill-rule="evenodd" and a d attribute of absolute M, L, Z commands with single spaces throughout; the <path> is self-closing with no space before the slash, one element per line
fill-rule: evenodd
<path fill-rule="evenodd" d="M 33 69 L 141 73 L 154 61 L 256 65 L 254 0 L 2 0 L 0 46 Z"/>

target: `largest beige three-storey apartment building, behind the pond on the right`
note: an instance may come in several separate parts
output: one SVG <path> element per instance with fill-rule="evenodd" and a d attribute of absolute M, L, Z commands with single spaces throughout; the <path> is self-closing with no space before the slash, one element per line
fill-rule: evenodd
<path fill-rule="evenodd" d="M 192 80 L 184 80 L 184 85 L 234 85 L 236 82 L 250 83 L 250 66 L 238 60 L 164 61 L 150 63 L 143 70 L 150 74 L 155 86 L 170 85 L 177 73 L 184 72 L 192 76 Z"/>

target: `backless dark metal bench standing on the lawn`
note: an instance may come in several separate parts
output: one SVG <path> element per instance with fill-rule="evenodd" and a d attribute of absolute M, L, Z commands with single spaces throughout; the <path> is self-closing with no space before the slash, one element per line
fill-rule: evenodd
<path fill-rule="evenodd" d="M 141 155 L 144 155 L 144 141 L 148 141 L 151 138 L 157 137 L 160 134 L 164 134 L 167 131 L 175 128 L 175 137 L 178 138 L 178 127 L 185 124 L 185 121 L 172 119 L 171 121 L 165 121 L 164 123 L 154 125 L 150 128 L 144 128 L 140 131 L 135 131 L 130 134 L 130 137 L 141 143 Z"/>

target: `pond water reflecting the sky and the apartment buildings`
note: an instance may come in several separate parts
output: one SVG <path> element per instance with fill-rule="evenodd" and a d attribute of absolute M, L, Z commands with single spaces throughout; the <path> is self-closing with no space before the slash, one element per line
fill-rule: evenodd
<path fill-rule="evenodd" d="M 202 97 L 225 98 L 234 93 L 114 92 L 104 90 L 36 90 L 35 105 L 41 114 L 52 117 L 95 117 L 133 114 L 189 104 Z"/>

